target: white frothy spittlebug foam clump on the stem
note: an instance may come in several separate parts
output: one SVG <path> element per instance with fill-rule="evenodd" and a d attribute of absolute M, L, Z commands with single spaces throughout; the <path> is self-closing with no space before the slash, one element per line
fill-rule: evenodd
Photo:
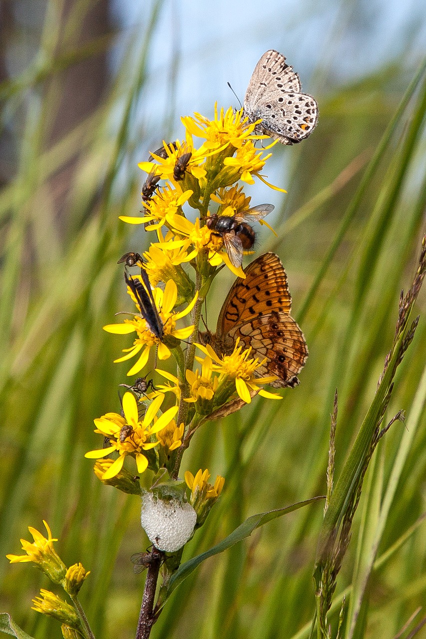
<path fill-rule="evenodd" d="M 142 528 L 155 548 L 174 553 L 193 534 L 197 514 L 191 504 L 171 500 L 168 504 L 144 493 L 141 512 Z"/>

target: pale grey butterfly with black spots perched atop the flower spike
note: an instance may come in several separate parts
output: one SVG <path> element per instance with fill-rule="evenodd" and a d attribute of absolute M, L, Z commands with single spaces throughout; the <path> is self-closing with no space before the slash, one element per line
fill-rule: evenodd
<path fill-rule="evenodd" d="M 250 122 L 262 118 L 255 132 L 281 144 L 295 144 L 317 125 L 318 106 L 312 95 L 301 93 L 299 76 L 278 51 L 263 54 L 253 71 L 244 98 Z"/>

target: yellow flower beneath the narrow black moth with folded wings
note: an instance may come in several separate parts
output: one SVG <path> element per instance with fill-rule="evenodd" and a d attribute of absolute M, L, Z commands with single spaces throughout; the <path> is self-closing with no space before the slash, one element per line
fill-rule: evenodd
<path fill-rule="evenodd" d="M 136 277 L 134 278 L 136 279 Z M 128 291 L 129 292 L 129 291 Z M 130 291 L 131 295 L 131 291 Z M 155 288 L 153 291 L 155 305 L 158 308 L 159 317 L 162 321 L 162 335 L 157 337 L 154 335 L 146 319 L 135 315 L 133 319 L 124 319 L 122 324 L 107 324 L 104 326 L 104 330 L 108 333 L 114 333 L 118 335 L 127 335 L 134 333 L 138 335 L 134 340 L 133 346 L 130 348 L 124 348 L 123 357 L 119 357 L 114 362 L 125 362 L 135 355 L 138 355 L 142 351 L 138 361 L 127 375 L 135 375 L 139 373 L 146 366 L 148 357 L 150 355 L 150 349 L 152 346 L 157 346 L 158 357 L 161 360 L 168 359 L 171 355 L 170 348 L 164 343 L 168 336 L 175 339 L 187 339 L 192 334 L 194 327 L 189 326 L 185 328 L 176 328 L 176 322 L 178 319 L 183 318 L 189 312 L 192 311 L 196 300 L 198 299 L 198 293 L 196 292 L 192 302 L 184 309 L 177 313 L 172 312 L 176 305 L 177 300 L 177 286 L 173 280 L 169 280 L 164 287 L 164 291 L 160 288 Z M 134 300 L 134 298 L 133 298 Z M 136 300 L 134 300 L 136 301 Z M 139 309 L 140 310 L 140 309 Z"/>

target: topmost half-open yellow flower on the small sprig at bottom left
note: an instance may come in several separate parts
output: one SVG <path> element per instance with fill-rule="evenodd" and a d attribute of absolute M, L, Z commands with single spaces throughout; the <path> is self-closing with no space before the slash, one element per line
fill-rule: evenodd
<path fill-rule="evenodd" d="M 43 573 L 47 574 L 49 579 L 54 583 L 61 583 L 67 573 L 67 566 L 63 563 L 56 550 L 53 548 L 53 542 L 58 541 L 52 537 L 51 529 L 47 522 L 43 520 L 43 524 L 47 530 L 47 538 L 38 532 L 32 526 L 28 527 L 29 532 L 33 535 L 34 543 L 21 539 L 22 550 L 26 555 L 6 555 L 11 564 L 19 562 L 32 561 Z"/>

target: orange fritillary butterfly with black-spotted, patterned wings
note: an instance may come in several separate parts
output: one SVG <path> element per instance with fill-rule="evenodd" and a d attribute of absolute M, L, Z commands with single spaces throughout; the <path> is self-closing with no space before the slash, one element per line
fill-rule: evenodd
<path fill-rule="evenodd" d="M 244 269 L 232 285 L 219 318 L 216 334 L 201 334 L 217 353 L 230 355 L 237 337 L 264 366 L 260 377 L 276 375 L 275 388 L 297 386 L 297 373 L 308 357 L 303 332 L 290 316 L 292 298 L 287 274 L 278 255 L 265 253 Z"/>

